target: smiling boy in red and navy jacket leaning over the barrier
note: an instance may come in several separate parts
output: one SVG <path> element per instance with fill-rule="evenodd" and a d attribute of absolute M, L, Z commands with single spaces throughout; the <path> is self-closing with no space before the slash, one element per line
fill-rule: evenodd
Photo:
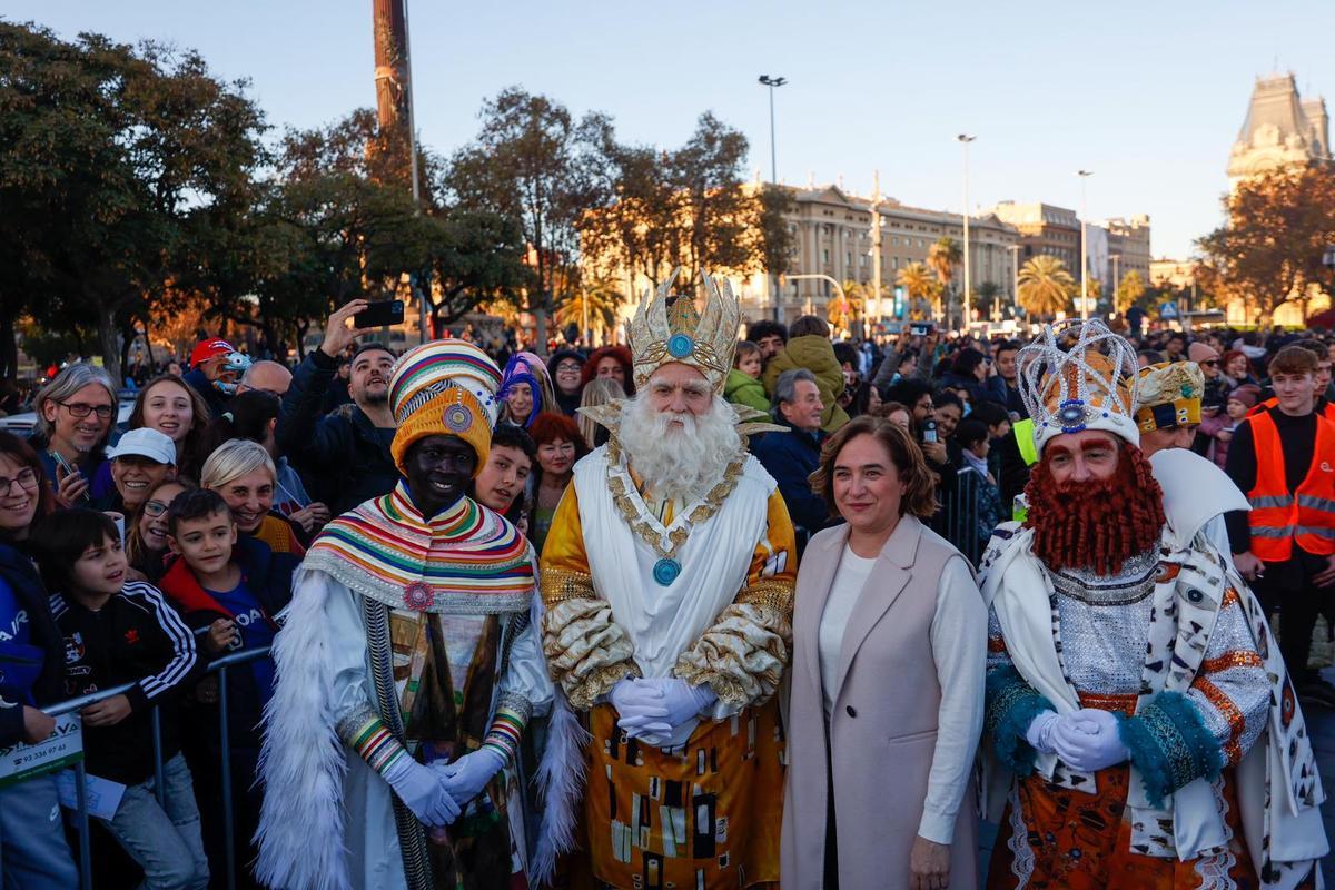
<path fill-rule="evenodd" d="M 232 511 L 216 491 L 184 491 L 167 508 L 167 543 L 176 554 L 162 578 L 163 592 L 186 623 L 207 628 L 204 648 L 210 658 L 224 652 L 260 648 L 274 642 L 276 615 L 291 598 L 298 559 L 271 551 L 264 542 L 238 535 Z M 188 703 L 186 754 L 194 767 L 200 795 L 222 801 L 222 721 L 216 675 L 206 678 Z M 255 851 L 244 841 L 255 834 L 262 802 L 255 785 L 259 759 L 259 723 L 274 691 L 274 660 L 258 658 L 227 671 L 228 743 L 232 766 L 232 813 L 236 845 L 236 875 L 244 885 L 246 863 Z M 223 814 L 219 806 L 204 807 L 204 837 L 215 871 L 226 867 Z"/>

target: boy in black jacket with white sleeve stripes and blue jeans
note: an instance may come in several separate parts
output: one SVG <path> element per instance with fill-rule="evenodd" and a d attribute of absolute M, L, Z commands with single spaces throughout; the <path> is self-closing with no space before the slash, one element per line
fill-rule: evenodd
<path fill-rule="evenodd" d="M 105 515 L 52 514 L 33 531 L 32 544 L 64 636 L 65 695 L 134 685 L 81 711 L 88 773 L 127 786 L 105 826 L 144 870 L 143 886 L 208 886 L 199 809 L 174 707 L 203 669 L 190 628 L 158 588 L 125 580 L 129 566 L 120 535 Z M 155 706 L 162 729 L 160 803 Z"/>

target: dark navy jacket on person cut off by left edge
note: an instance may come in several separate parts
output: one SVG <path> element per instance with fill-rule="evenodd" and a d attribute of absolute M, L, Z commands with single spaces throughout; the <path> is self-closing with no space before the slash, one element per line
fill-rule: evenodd
<path fill-rule="evenodd" d="M 32 562 L 0 544 L 0 747 L 23 741 L 23 706 L 59 702 L 65 655 Z"/>

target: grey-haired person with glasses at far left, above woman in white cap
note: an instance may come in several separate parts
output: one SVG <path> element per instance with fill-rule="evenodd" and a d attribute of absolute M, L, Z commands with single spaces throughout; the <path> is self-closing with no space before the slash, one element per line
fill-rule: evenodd
<path fill-rule="evenodd" d="M 116 422 L 111 375 L 93 364 L 71 364 L 37 391 L 32 407 L 37 423 L 28 444 L 41 459 L 56 502 L 63 507 L 88 506 L 109 494 L 109 476 L 103 474 L 96 490 L 93 476 L 107 460 L 107 442 Z"/>

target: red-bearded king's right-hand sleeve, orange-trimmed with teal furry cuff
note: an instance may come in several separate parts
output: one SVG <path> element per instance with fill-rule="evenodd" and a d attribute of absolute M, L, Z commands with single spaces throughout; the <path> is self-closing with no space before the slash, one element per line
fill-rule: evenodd
<path fill-rule="evenodd" d="M 1228 588 L 1191 687 L 1160 693 L 1121 726 L 1151 802 L 1236 766 L 1266 727 L 1270 694 L 1238 591 Z"/>

